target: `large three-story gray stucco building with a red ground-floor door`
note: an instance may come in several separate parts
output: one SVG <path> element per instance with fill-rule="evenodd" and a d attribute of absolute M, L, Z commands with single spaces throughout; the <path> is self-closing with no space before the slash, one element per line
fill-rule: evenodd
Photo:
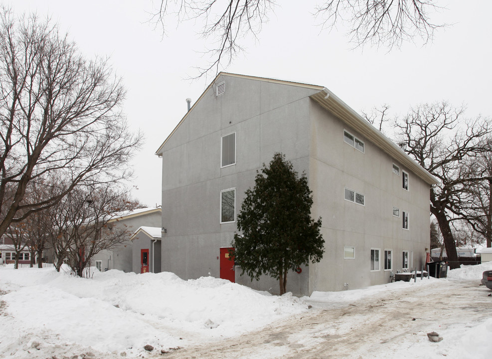
<path fill-rule="evenodd" d="M 163 271 L 278 292 L 226 258 L 244 192 L 275 152 L 306 173 L 326 241 L 320 263 L 289 273 L 288 291 L 388 283 L 425 263 L 433 176 L 323 86 L 221 72 L 157 151 Z"/>

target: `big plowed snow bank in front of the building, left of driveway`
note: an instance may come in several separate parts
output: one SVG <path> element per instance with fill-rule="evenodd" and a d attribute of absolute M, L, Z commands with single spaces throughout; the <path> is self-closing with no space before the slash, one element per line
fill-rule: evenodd
<path fill-rule="evenodd" d="M 77 343 L 99 352 L 137 354 L 183 345 L 187 333 L 231 337 L 307 310 L 300 299 L 260 294 L 212 277 L 183 281 L 172 273 L 100 273 L 92 279 L 53 268 L 1 269 L 0 353 L 31 358 L 33 342 Z M 108 335 L 110 334 L 110 335 Z M 49 339 L 48 339 L 49 338 Z M 48 343 L 47 343 L 48 342 Z"/>

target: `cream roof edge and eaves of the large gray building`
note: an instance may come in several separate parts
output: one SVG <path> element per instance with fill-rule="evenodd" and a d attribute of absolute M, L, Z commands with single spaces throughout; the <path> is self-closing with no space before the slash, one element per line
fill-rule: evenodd
<path fill-rule="evenodd" d="M 207 93 L 207 91 L 215 84 L 217 79 L 220 76 L 230 76 L 230 77 L 238 77 L 249 80 L 258 80 L 264 82 L 277 83 L 282 85 L 291 85 L 309 88 L 313 90 L 317 90 L 317 92 L 310 96 L 312 100 L 320 104 L 330 113 L 335 115 L 341 121 L 357 130 L 361 134 L 363 134 L 368 140 L 370 140 L 374 145 L 379 147 L 383 152 L 390 155 L 395 161 L 399 162 L 403 167 L 406 167 L 409 171 L 416 174 L 419 178 L 424 180 L 428 184 L 437 184 L 439 181 L 428 173 L 424 168 L 422 168 L 417 162 L 415 162 L 410 156 L 408 156 L 405 151 L 403 151 L 397 144 L 395 144 L 392 140 L 387 138 L 385 135 L 381 133 L 381 131 L 377 130 L 374 126 L 372 126 L 367 120 L 365 120 L 362 116 L 360 116 L 357 112 L 355 112 L 350 106 L 348 106 L 345 102 L 340 100 L 335 94 L 333 94 L 330 90 L 328 90 L 324 86 L 318 85 L 310 85 L 300 82 L 292 82 L 285 80 L 277 80 L 265 77 L 255 77 L 255 76 L 247 76 L 247 75 L 239 75 L 232 74 L 227 72 L 220 72 L 208 85 L 208 87 L 203 91 L 201 96 L 196 100 L 196 102 L 191 106 L 190 110 L 184 115 L 184 117 L 179 121 L 177 126 L 171 131 L 171 133 L 164 140 L 163 144 L 156 151 L 156 155 L 161 156 L 162 149 L 169 138 L 174 134 L 174 132 L 179 128 L 179 126 L 186 119 L 188 114 L 193 110 L 198 102 L 203 98 L 203 96 Z"/>

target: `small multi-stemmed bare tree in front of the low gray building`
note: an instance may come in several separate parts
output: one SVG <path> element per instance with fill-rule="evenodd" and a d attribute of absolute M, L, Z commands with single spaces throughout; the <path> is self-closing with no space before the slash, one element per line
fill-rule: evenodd
<path fill-rule="evenodd" d="M 51 210 L 57 270 L 66 261 L 74 274 L 83 276 L 94 255 L 128 239 L 126 226 L 108 222 L 136 206 L 138 201 L 112 184 L 74 188 Z"/>

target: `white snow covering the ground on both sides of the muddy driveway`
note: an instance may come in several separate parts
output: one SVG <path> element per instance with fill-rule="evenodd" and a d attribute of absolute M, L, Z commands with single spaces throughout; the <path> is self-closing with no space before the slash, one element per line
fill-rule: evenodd
<path fill-rule="evenodd" d="M 467 266 L 448 272 L 448 278 L 473 280 L 478 286 L 482 272 L 489 269 L 492 262 Z M 171 273 L 95 270 L 91 279 L 84 279 L 52 268 L 7 266 L 0 268 L 0 358 L 148 357 L 145 345 L 153 346 L 155 355 L 210 343 L 308 312 L 309 304 L 343 305 L 415 285 L 432 287 L 436 281 L 448 280 L 397 282 L 296 298 L 271 296 L 211 277 L 183 281 Z M 455 334 L 465 327 L 467 338 L 473 339 L 471 358 L 489 358 L 492 313 L 483 322 L 463 323 Z M 378 354 L 393 358 L 390 353 Z"/>

